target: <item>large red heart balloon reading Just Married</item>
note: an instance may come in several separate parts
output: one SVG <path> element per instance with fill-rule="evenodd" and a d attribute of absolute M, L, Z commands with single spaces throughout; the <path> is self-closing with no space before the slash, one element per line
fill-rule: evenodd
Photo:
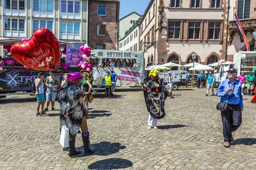
<path fill-rule="evenodd" d="M 36 70 L 55 69 L 61 60 L 58 40 L 47 28 L 39 28 L 27 41 L 15 43 L 10 52 L 17 62 Z"/>

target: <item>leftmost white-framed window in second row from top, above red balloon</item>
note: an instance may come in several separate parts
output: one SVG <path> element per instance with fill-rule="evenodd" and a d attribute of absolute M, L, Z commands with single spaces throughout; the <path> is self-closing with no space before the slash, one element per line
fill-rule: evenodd
<path fill-rule="evenodd" d="M 25 20 L 5 18 L 4 30 L 5 31 L 25 31 Z"/>

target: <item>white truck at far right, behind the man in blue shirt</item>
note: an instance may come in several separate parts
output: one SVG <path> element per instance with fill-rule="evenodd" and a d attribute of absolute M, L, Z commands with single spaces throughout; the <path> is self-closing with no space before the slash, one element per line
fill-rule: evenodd
<path fill-rule="evenodd" d="M 215 70 L 215 86 L 218 87 L 220 82 L 226 79 L 230 68 L 236 68 L 238 76 L 241 73 L 241 69 L 246 69 L 243 72 L 254 71 L 256 69 L 255 66 L 251 66 L 251 67 L 241 66 L 241 63 L 242 63 L 242 60 L 244 59 L 252 59 L 255 57 L 256 57 L 256 51 L 240 51 L 234 54 L 234 58 L 233 58 L 234 63 L 224 62 L 221 65 L 218 65 L 217 69 Z"/>

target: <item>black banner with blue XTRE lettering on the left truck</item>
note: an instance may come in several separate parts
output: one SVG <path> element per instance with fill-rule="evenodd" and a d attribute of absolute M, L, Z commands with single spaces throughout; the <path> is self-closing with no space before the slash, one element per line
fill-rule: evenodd
<path fill-rule="evenodd" d="M 81 68 L 69 68 L 64 70 L 58 68 L 60 72 L 56 73 L 56 77 L 63 80 L 63 74 L 80 71 Z M 0 91 L 32 91 L 32 84 L 38 73 L 44 73 L 44 82 L 49 76 L 49 71 L 41 71 L 35 69 L 26 70 L 24 67 L 3 67 L 0 71 Z"/>

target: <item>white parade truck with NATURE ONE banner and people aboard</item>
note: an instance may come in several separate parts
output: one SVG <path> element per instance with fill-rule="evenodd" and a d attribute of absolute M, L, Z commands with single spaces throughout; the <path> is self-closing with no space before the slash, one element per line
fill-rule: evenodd
<path fill-rule="evenodd" d="M 116 74 L 117 87 L 141 87 L 140 82 L 144 79 L 144 52 L 143 51 L 114 51 L 114 50 L 92 50 L 90 58 L 98 61 L 99 67 L 93 67 L 93 88 L 105 88 L 104 77 L 107 71 L 113 70 Z M 122 67 L 100 67 L 106 59 L 121 59 L 132 62 L 135 59 L 135 68 Z"/>

